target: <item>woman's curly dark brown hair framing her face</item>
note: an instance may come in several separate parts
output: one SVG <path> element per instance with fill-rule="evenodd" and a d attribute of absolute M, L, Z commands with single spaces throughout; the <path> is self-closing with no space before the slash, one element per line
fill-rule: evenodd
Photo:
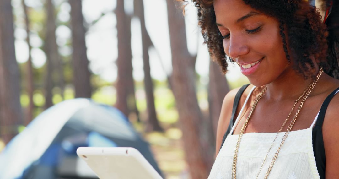
<path fill-rule="evenodd" d="M 228 57 L 223 49 L 222 35 L 216 25 L 213 1 L 192 0 L 198 8 L 198 25 L 201 27 L 208 51 L 212 59 L 222 67 L 222 72 L 226 73 Z M 267 16 L 278 19 L 286 59 L 292 62 L 293 68 L 305 79 L 315 77 L 313 74 L 316 69 L 312 56 L 315 57 L 315 62 L 324 68 L 325 73 L 339 77 L 337 62 L 339 53 L 336 51 L 338 49 L 327 51 L 327 39 L 332 39 L 333 36 L 328 36 L 326 25 L 321 21 L 320 13 L 315 6 L 305 0 L 243 0 L 243 2 Z M 284 32 L 287 32 L 287 36 Z M 287 39 L 288 50 L 286 38 L 293 39 Z M 333 44 L 329 45 L 330 48 Z"/>

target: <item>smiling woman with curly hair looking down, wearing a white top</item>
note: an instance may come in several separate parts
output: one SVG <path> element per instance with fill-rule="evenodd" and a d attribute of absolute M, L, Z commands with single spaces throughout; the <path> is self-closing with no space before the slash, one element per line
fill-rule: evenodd
<path fill-rule="evenodd" d="M 193 2 L 223 72 L 228 57 L 251 82 L 224 98 L 209 178 L 338 178 L 338 41 L 328 47 L 316 8 L 304 0 Z"/>

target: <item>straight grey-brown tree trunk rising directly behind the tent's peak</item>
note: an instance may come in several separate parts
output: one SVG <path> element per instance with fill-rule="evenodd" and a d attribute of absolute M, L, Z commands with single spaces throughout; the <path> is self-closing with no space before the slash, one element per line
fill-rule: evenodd
<path fill-rule="evenodd" d="M 76 98 L 91 98 L 91 74 L 88 70 L 85 27 L 81 0 L 69 0 L 71 5 L 73 84 Z"/>

